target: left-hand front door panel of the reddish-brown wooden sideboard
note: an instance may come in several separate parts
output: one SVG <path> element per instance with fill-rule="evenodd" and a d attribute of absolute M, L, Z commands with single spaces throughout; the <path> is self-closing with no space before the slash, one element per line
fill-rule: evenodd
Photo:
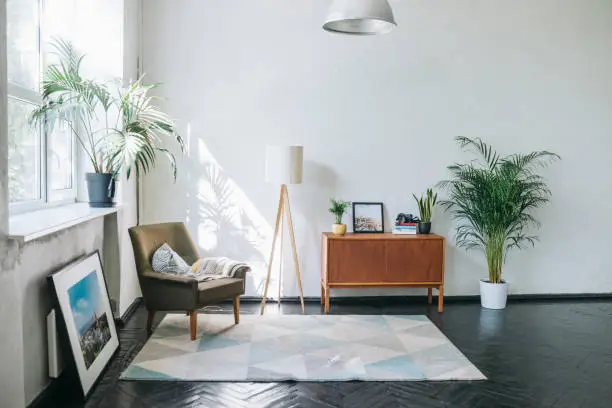
<path fill-rule="evenodd" d="M 329 283 L 369 283 L 384 274 L 382 241 L 331 240 L 327 256 Z"/>

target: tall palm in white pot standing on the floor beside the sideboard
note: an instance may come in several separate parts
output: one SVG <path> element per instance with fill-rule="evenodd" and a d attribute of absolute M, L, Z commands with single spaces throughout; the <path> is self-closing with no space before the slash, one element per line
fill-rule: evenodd
<path fill-rule="evenodd" d="M 489 278 L 480 281 L 482 306 L 503 309 L 508 286 L 502 267 L 508 252 L 535 244 L 532 232 L 540 223 L 532 212 L 551 197 L 537 170 L 560 157 L 548 151 L 502 156 L 481 139 L 456 140 L 478 158 L 448 167 L 451 178 L 439 184 L 448 199 L 441 204 L 457 222 L 457 246 L 484 252 Z"/>

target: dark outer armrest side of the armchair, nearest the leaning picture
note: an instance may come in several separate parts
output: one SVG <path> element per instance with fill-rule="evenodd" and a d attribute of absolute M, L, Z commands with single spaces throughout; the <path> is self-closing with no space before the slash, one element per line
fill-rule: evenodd
<path fill-rule="evenodd" d="M 198 302 L 198 281 L 193 278 L 146 270 L 140 286 L 147 309 L 154 311 L 194 310 Z"/>

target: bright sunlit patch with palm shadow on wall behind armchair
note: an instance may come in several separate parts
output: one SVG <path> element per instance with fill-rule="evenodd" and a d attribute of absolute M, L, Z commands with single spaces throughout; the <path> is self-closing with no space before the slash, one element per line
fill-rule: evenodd
<path fill-rule="evenodd" d="M 250 264 L 246 293 L 261 295 L 272 227 L 204 142 L 190 136 L 189 142 L 195 141 L 197 146 L 189 146 L 189 160 L 184 164 L 188 179 L 185 223 L 201 256 L 225 256 Z M 274 284 L 271 282 L 271 288 Z"/>

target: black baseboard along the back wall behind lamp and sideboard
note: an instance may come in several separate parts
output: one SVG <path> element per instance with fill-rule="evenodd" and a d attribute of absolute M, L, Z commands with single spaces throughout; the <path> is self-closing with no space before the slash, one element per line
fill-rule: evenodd
<path fill-rule="evenodd" d="M 435 291 L 434 291 L 435 297 Z M 539 301 L 601 301 L 612 300 L 612 293 L 550 293 L 550 294 L 517 294 L 508 295 L 509 302 L 539 302 Z M 245 303 L 260 303 L 261 297 L 257 296 L 242 296 L 241 302 Z M 427 296 L 332 296 L 330 301 L 337 304 L 347 303 L 380 303 L 399 304 L 399 303 L 422 303 L 427 302 Z M 275 300 L 269 300 L 270 303 L 275 303 Z M 281 298 L 281 302 L 285 303 L 300 303 L 298 296 L 287 296 Z M 480 295 L 457 295 L 444 296 L 444 303 L 478 303 Z M 321 303 L 321 298 L 318 296 L 304 297 L 304 303 Z"/>

